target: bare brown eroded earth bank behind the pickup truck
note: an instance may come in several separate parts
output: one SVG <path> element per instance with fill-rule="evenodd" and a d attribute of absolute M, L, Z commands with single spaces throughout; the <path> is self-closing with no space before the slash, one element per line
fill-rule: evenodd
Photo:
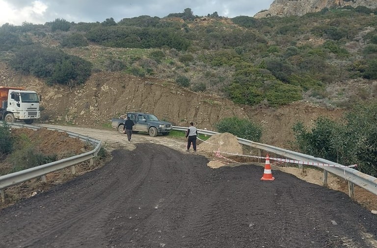
<path fill-rule="evenodd" d="M 93 74 L 85 85 L 47 86 L 33 76 L 16 74 L 0 63 L 0 85 L 23 86 L 42 95 L 43 123 L 104 127 L 112 117 L 126 111 L 145 111 L 174 125 L 189 122 L 208 130 L 225 117 L 250 118 L 262 124 L 266 144 L 289 148 L 293 140 L 292 125 L 302 121 L 313 124 L 319 116 L 339 118 L 342 109 L 328 109 L 308 102 L 295 102 L 280 108 L 239 106 L 215 94 L 195 93 L 156 78 L 141 78 L 121 73 Z M 114 129 L 115 132 L 115 129 Z"/>

